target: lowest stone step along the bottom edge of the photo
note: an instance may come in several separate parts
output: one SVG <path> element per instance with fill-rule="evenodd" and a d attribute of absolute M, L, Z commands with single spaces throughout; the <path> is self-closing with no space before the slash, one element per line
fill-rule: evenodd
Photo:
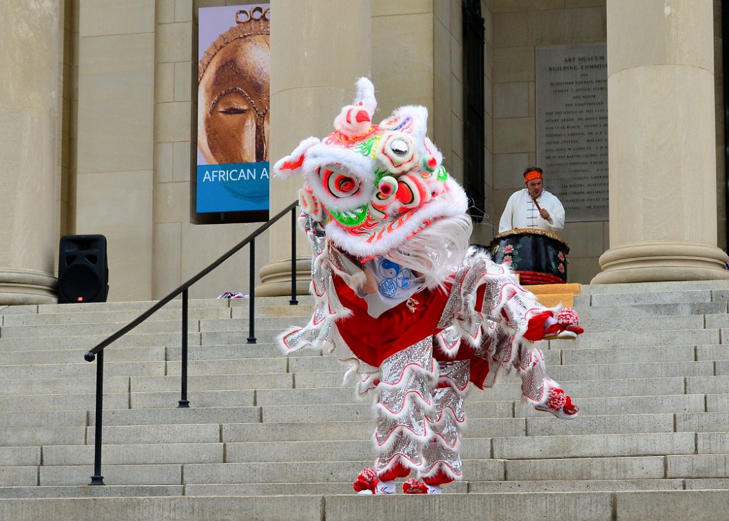
<path fill-rule="evenodd" d="M 335 519 L 356 521 L 362 512 L 372 519 L 412 519 L 448 512 L 452 521 L 476 517 L 503 521 L 544 518 L 547 513 L 570 512 L 583 521 L 660 519 L 690 517 L 717 520 L 729 498 L 729 490 L 606 491 L 534 493 L 525 501 L 521 494 L 443 494 L 423 501 L 412 495 L 397 499 L 376 499 L 364 495 L 279 495 L 279 496 L 186 496 L 179 498 L 9 499 L 4 507 L 7 519 L 79 519 L 111 516 L 115 519 L 196 519 L 205 512 L 208 519 L 233 519 L 232 513 L 246 512 L 256 520 Z M 615 512 L 615 514 L 613 514 Z"/>

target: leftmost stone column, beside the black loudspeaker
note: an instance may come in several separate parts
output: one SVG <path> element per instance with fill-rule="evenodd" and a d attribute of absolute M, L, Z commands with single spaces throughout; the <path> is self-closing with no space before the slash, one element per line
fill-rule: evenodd
<path fill-rule="evenodd" d="M 0 2 L 0 305 L 56 302 L 61 12 Z"/>

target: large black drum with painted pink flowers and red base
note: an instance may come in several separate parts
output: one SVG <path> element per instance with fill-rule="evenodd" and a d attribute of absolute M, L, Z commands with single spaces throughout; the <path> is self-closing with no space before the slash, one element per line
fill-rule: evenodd
<path fill-rule="evenodd" d="M 569 246 L 559 235 L 535 228 L 516 228 L 499 233 L 488 251 L 496 264 L 510 265 L 521 284 L 567 282 Z"/>

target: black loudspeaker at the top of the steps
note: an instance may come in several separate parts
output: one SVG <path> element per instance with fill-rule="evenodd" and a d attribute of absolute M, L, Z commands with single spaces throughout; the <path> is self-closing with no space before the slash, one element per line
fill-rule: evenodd
<path fill-rule="evenodd" d="M 109 267 L 104 235 L 64 235 L 58 248 L 58 303 L 106 302 Z"/>

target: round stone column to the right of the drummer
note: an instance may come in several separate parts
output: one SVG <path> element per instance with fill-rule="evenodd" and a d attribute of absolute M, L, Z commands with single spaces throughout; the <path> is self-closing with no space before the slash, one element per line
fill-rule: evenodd
<path fill-rule="evenodd" d="M 607 0 L 610 246 L 592 283 L 729 278 L 712 2 Z"/>

